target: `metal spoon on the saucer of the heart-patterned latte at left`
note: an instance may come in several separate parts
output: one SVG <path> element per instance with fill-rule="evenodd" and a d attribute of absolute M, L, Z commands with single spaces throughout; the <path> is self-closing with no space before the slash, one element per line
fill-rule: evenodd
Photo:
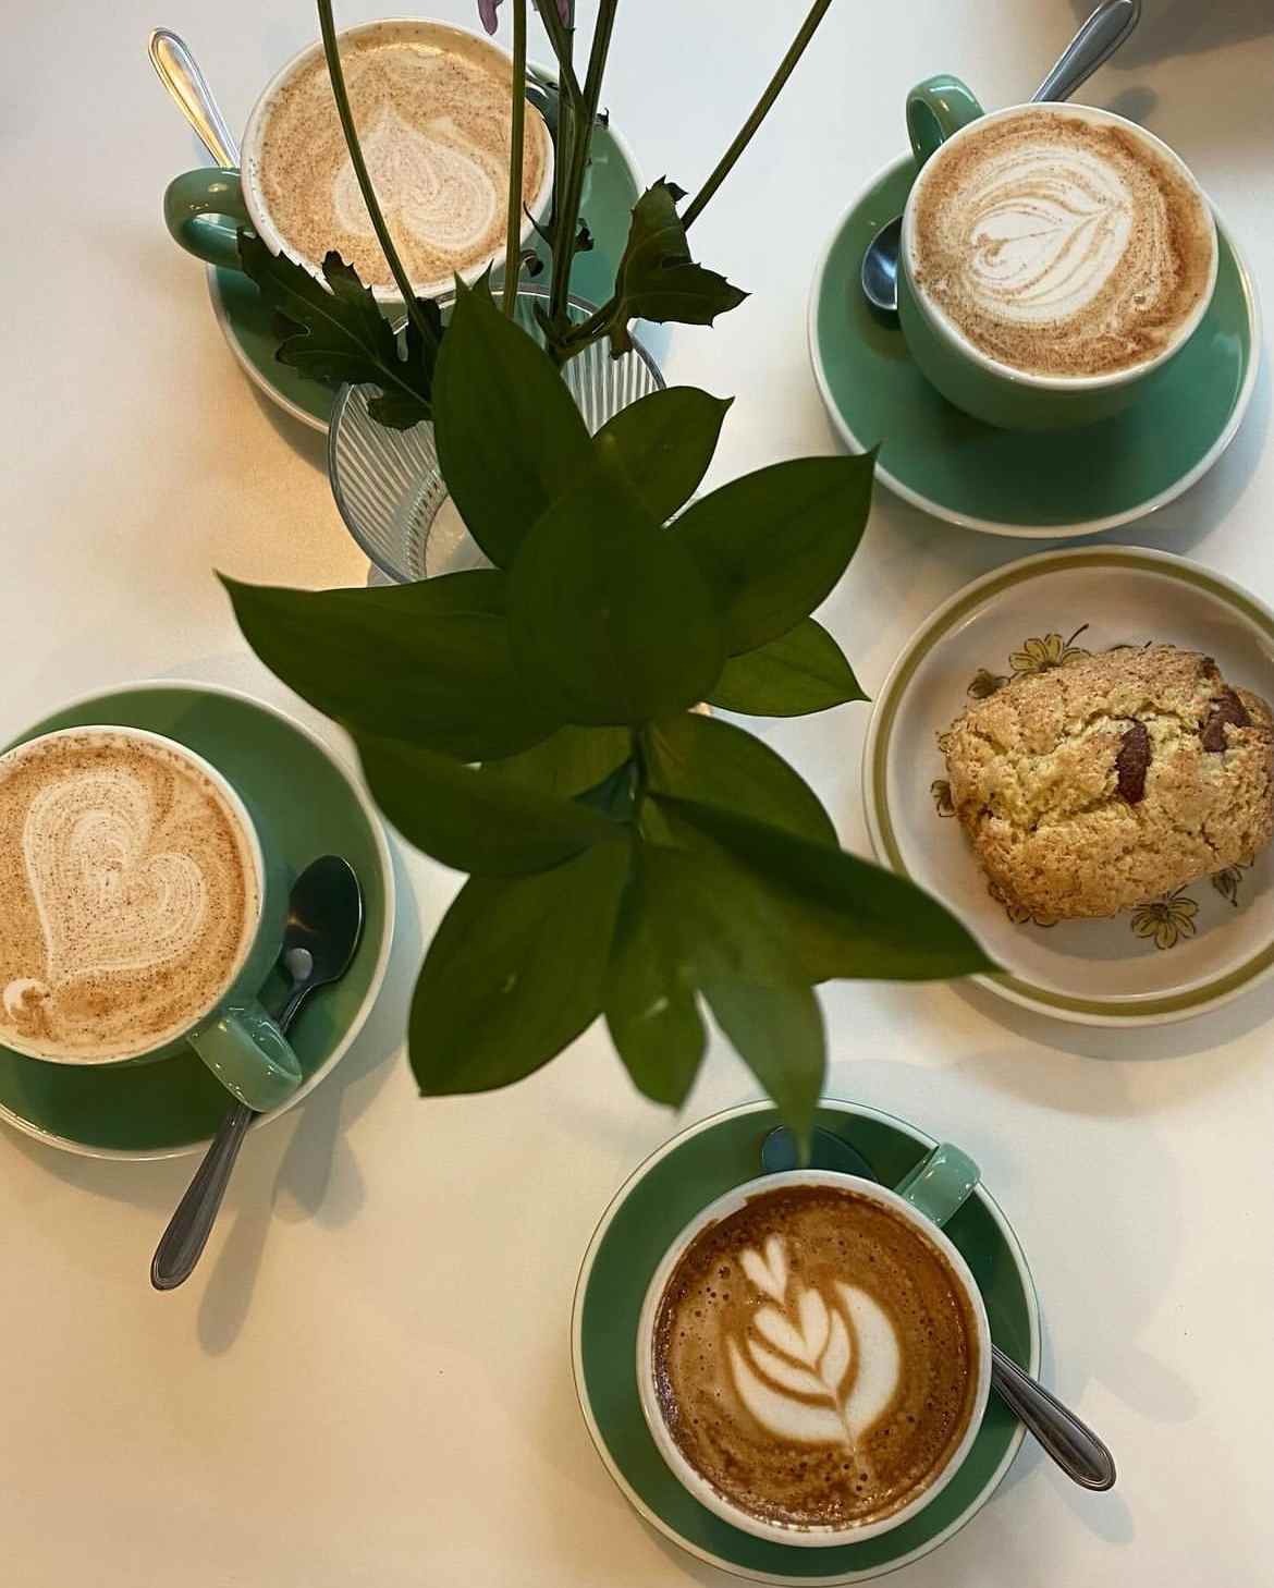
<path fill-rule="evenodd" d="M 362 934 L 362 889 L 354 869 L 338 854 L 307 865 L 292 885 L 280 962 L 292 985 L 276 1016 L 288 1031 L 300 1005 L 349 969 Z M 243 1137 L 256 1115 L 237 1102 L 203 1154 L 186 1196 L 178 1202 L 151 1261 L 151 1285 L 176 1289 L 187 1280 L 211 1234 Z"/>

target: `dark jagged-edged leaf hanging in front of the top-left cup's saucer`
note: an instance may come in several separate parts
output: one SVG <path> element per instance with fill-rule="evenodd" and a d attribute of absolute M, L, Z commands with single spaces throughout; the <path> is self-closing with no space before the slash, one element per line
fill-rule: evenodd
<path fill-rule="evenodd" d="M 429 418 L 437 340 L 424 345 L 413 327 L 403 359 L 372 289 L 340 254 L 322 260 L 327 287 L 286 254 L 272 254 L 251 232 L 238 233 L 238 254 L 265 303 L 286 322 L 280 364 L 327 384 L 380 386 L 384 395 L 373 399 L 372 413 L 381 424 L 407 429 Z M 423 308 L 440 338 L 437 303 Z"/>

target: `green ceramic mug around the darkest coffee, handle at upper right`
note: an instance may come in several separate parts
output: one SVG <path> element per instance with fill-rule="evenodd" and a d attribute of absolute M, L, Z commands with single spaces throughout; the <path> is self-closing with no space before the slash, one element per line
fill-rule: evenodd
<path fill-rule="evenodd" d="M 789 1169 L 782 1174 L 762 1175 L 759 1180 L 748 1180 L 734 1191 L 728 1191 L 705 1207 L 686 1224 L 680 1235 L 669 1247 L 656 1267 L 650 1286 L 647 1288 L 642 1313 L 637 1321 L 637 1396 L 642 1404 L 650 1437 L 656 1450 L 664 1458 L 672 1474 L 681 1485 L 708 1510 L 724 1521 L 758 1539 L 769 1539 L 774 1544 L 799 1545 L 802 1548 L 836 1548 L 844 1544 L 863 1544 L 882 1532 L 909 1521 L 936 1499 L 947 1483 L 956 1475 L 961 1463 L 982 1428 L 982 1416 L 991 1393 L 991 1328 L 986 1321 L 986 1304 L 977 1280 L 956 1247 L 942 1232 L 945 1224 L 967 1201 L 979 1183 L 979 1167 L 966 1153 L 950 1142 L 942 1142 L 928 1153 L 905 1178 L 891 1191 L 877 1185 L 875 1180 L 863 1180 L 858 1175 L 845 1175 L 832 1169 Z M 683 1455 L 680 1445 L 664 1421 L 659 1404 L 659 1388 L 656 1383 L 654 1336 L 661 1302 L 669 1280 L 681 1261 L 686 1248 L 708 1224 L 715 1224 L 731 1213 L 737 1213 L 753 1197 L 780 1191 L 785 1186 L 832 1186 L 836 1189 L 853 1189 L 867 1201 L 882 1204 L 905 1223 L 923 1231 L 925 1239 L 937 1247 L 947 1267 L 955 1277 L 969 1302 L 969 1313 L 977 1334 L 977 1363 L 974 1367 L 972 1399 L 967 1426 L 947 1453 L 942 1466 L 931 1474 L 928 1485 L 905 1505 L 880 1517 L 877 1521 L 861 1521 L 850 1528 L 836 1526 L 788 1526 L 778 1520 L 756 1517 L 751 1512 L 732 1504 L 708 1480 L 696 1470 Z M 824 1578 L 826 1580 L 826 1578 Z"/>

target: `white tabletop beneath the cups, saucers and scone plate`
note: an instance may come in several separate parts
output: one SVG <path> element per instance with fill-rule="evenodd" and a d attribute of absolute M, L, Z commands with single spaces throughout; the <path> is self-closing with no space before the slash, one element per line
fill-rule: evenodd
<path fill-rule="evenodd" d="M 475 25 L 465 0 L 434 5 Z M 607 98 L 648 178 L 696 187 L 801 10 L 621 6 Z M 664 360 L 669 378 L 737 394 L 713 483 L 834 449 L 805 356 L 807 284 L 839 211 L 898 152 L 909 84 L 947 68 L 988 105 L 1023 98 L 1087 10 L 837 0 L 696 227 L 699 256 L 753 294 L 716 330 L 677 330 Z M 1274 6 L 1145 13 L 1085 92 L 1182 151 L 1274 300 Z M 338 5 L 342 24 L 375 14 Z M 165 183 L 203 160 L 146 62 L 156 22 L 189 38 L 238 127 L 316 33 L 305 0 L 3 8 L 0 740 L 143 676 L 295 703 L 248 654 L 213 569 L 308 586 L 365 573 L 318 438 L 246 384 L 202 270 L 164 233 Z M 1268 430 L 1263 376 L 1212 476 L 1114 538 L 1199 557 L 1274 600 Z M 1029 549 L 880 494 L 826 621 L 874 688 L 939 600 Z M 858 851 L 866 723 L 845 707 L 769 730 Z M 585 1434 L 567 1353 L 593 1224 L 681 1121 L 635 1096 L 600 1031 L 502 1096 L 419 1100 L 405 1010 L 456 877 L 402 848 L 399 867 L 397 945 L 367 1034 L 251 1140 L 184 1289 L 152 1294 L 146 1269 L 191 1159 L 97 1162 L 0 1134 L 6 1588 L 728 1582 L 629 1513 Z M 1120 1463 L 1118 1488 L 1090 1496 L 1025 1448 L 899 1588 L 1268 1583 L 1274 985 L 1136 1034 L 948 986 L 824 997 L 829 1091 L 980 1159 L 1036 1272 L 1047 1378 Z M 685 1120 L 748 1096 L 718 1042 Z"/>

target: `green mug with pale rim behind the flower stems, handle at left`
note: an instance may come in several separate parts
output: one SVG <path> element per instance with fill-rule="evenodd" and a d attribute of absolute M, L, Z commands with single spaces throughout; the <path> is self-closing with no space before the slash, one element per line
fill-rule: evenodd
<path fill-rule="evenodd" d="M 338 37 L 342 54 L 349 46 L 357 46 L 361 38 L 383 27 L 386 27 L 384 22 L 364 22 L 359 27 L 346 29 Z M 500 64 L 502 70 L 512 71 L 510 57 L 488 38 L 480 38 L 477 33 L 469 33 L 461 27 L 448 27 L 445 22 L 421 21 L 421 27 L 427 27 L 430 38 L 437 35 L 443 46 L 446 38 L 453 37 L 464 41 L 465 49 L 480 49 L 491 56 L 492 62 Z M 243 130 L 238 170 L 208 167 L 197 172 L 184 172 L 168 183 L 168 189 L 164 194 L 164 222 L 173 241 L 180 243 L 187 254 L 194 254 L 197 259 L 205 260 L 205 264 L 222 270 L 241 270 L 238 232 L 240 229 L 246 229 L 256 232 L 272 254 L 286 252 L 289 257 L 297 259 L 299 264 L 303 264 L 311 275 L 321 276 L 319 260 L 305 259 L 294 248 L 284 245 L 270 216 L 261 183 L 261 146 L 270 121 L 270 110 L 283 89 L 321 57 L 322 43 L 316 41 L 292 56 L 265 84 Z M 539 113 L 529 110 L 529 114 L 537 116 Z M 523 245 L 532 235 L 532 216 L 540 218 L 546 211 L 553 194 L 553 140 L 545 137 L 543 145 L 543 179 L 540 192 L 523 218 Z M 500 259 L 504 259 L 504 245 L 500 245 L 499 252 L 491 259 L 481 259 L 459 272 L 461 279 L 477 281 L 492 262 Z M 419 297 L 442 297 L 451 292 L 454 276 L 448 273 L 437 281 L 421 281 L 413 283 L 413 286 Z M 386 303 L 391 308 L 402 306 L 402 295 L 392 286 L 375 286 L 373 294 L 380 303 Z"/>

